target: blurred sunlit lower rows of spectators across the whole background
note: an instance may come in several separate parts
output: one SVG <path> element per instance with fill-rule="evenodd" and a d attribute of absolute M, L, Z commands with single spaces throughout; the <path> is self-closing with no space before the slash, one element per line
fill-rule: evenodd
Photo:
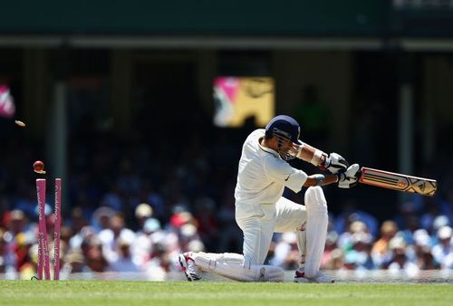
<path fill-rule="evenodd" d="M 155 195 L 157 196 L 157 195 Z M 331 218 L 322 268 L 325 270 L 403 271 L 416 276 L 420 270 L 453 269 L 453 230 L 447 215 L 424 214 L 416 223 L 414 204 L 405 203 L 403 224 L 386 220 L 381 224 L 360 210 Z M 72 209 L 61 232 L 61 279 L 70 273 L 146 273 L 149 280 L 165 280 L 180 270 L 178 253 L 193 251 L 236 252 L 241 232 L 233 210 L 213 214 L 213 203 L 200 199 L 197 211 L 174 206 L 168 224 L 155 217 L 155 210 L 141 203 L 134 210 L 135 228 L 124 214 L 101 206 L 91 219 L 82 209 Z M 53 250 L 54 215 L 45 208 L 49 249 Z M 222 222 L 219 217 L 224 214 Z M 6 212 L 0 226 L 0 273 L 6 279 L 30 279 L 36 275 L 37 220 L 21 209 Z M 235 251 L 235 250 L 233 250 Z M 51 262 L 53 262 L 53 252 Z M 298 263 L 295 233 L 275 234 L 268 263 L 286 270 Z"/>

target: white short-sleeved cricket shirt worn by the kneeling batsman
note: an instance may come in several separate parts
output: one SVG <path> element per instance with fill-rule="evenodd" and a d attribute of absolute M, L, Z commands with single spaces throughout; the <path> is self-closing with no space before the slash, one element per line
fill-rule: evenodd
<path fill-rule="evenodd" d="M 304 171 L 291 167 L 278 152 L 260 145 L 265 129 L 255 129 L 244 142 L 237 171 L 236 203 L 275 204 L 284 186 L 299 192 L 307 179 Z"/>

